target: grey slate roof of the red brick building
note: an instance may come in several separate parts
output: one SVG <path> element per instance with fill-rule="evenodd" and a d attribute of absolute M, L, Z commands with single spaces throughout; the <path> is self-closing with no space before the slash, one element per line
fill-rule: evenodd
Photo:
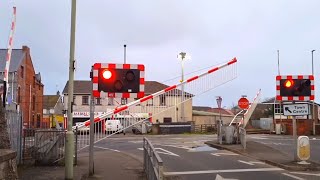
<path fill-rule="evenodd" d="M 4 68 L 6 67 L 7 52 L 8 49 L 0 49 L 0 72 L 4 72 Z M 9 72 L 15 72 L 19 69 L 25 54 L 22 49 L 12 50 Z"/>

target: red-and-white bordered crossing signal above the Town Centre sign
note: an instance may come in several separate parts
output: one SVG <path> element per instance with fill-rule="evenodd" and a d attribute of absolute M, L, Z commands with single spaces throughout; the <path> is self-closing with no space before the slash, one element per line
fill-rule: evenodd
<path fill-rule="evenodd" d="M 277 100 L 314 100 L 314 77 L 312 75 L 277 76 Z"/>

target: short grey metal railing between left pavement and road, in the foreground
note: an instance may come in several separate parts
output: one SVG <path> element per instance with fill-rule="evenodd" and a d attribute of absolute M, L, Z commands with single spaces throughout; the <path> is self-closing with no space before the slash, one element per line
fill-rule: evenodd
<path fill-rule="evenodd" d="M 163 179 L 163 161 L 147 138 L 143 138 L 143 162 L 148 180 Z"/>

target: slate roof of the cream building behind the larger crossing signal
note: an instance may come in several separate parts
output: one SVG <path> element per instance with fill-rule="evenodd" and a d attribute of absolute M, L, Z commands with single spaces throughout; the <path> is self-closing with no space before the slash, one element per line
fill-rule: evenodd
<path fill-rule="evenodd" d="M 92 91 L 92 83 L 90 80 L 76 80 L 74 81 L 74 94 L 90 94 Z M 62 93 L 68 94 L 69 81 L 66 83 Z M 145 94 L 153 94 L 169 87 L 157 81 L 145 81 Z M 180 90 L 176 90 L 178 94 L 181 94 Z"/>

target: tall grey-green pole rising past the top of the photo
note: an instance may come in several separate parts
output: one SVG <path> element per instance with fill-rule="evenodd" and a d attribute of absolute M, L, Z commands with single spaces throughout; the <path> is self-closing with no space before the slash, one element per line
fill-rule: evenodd
<path fill-rule="evenodd" d="M 70 31 L 70 59 L 69 59 L 69 86 L 68 86 L 68 130 L 65 144 L 65 179 L 73 179 L 73 155 L 74 155 L 74 134 L 72 131 L 73 117 L 73 81 L 74 81 L 74 51 L 76 32 L 76 0 L 71 4 L 71 31 Z"/>

